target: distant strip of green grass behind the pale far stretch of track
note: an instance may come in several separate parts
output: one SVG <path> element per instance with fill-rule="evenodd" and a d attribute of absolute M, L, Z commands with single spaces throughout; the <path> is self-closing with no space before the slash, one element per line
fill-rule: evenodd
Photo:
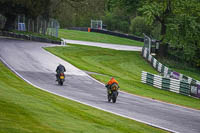
<path fill-rule="evenodd" d="M 71 40 L 113 43 L 113 44 L 131 45 L 131 46 L 143 46 L 144 45 L 143 42 L 138 42 L 135 40 L 120 38 L 120 37 L 116 37 L 116 36 L 95 33 L 95 32 L 84 32 L 84 31 L 60 29 L 58 35 L 60 38 L 71 39 Z"/>

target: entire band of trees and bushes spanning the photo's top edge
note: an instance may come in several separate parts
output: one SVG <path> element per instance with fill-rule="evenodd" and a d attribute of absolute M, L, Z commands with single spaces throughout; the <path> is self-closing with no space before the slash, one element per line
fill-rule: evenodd
<path fill-rule="evenodd" d="M 169 55 L 200 67 L 200 0 L 1 0 L 0 14 L 7 30 L 19 14 L 53 17 L 62 28 L 101 19 L 109 30 L 152 36 L 170 46 Z"/>

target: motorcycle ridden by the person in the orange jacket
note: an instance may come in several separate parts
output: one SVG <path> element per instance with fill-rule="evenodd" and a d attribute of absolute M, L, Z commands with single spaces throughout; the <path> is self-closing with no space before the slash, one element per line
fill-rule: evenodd
<path fill-rule="evenodd" d="M 119 86 L 115 83 L 110 86 L 110 89 L 108 89 L 108 102 L 111 102 L 111 100 L 113 103 L 116 102 L 118 96 L 118 89 Z"/>

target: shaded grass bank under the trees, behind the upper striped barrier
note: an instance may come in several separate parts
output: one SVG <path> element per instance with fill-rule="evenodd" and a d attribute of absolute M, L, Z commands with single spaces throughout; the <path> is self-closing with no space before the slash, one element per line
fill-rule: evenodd
<path fill-rule="evenodd" d="M 200 81 L 199 68 L 194 68 L 193 66 L 187 64 L 187 62 L 175 61 L 172 58 L 158 58 L 158 60 L 172 70 Z"/>

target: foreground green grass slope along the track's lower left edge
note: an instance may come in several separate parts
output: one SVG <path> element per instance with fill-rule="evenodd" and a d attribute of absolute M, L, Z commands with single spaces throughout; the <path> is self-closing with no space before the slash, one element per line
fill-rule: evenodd
<path fill-rule="evenodd" d="M 34 88 L 0 62 L 0 133 L 162 133 Z"/>

